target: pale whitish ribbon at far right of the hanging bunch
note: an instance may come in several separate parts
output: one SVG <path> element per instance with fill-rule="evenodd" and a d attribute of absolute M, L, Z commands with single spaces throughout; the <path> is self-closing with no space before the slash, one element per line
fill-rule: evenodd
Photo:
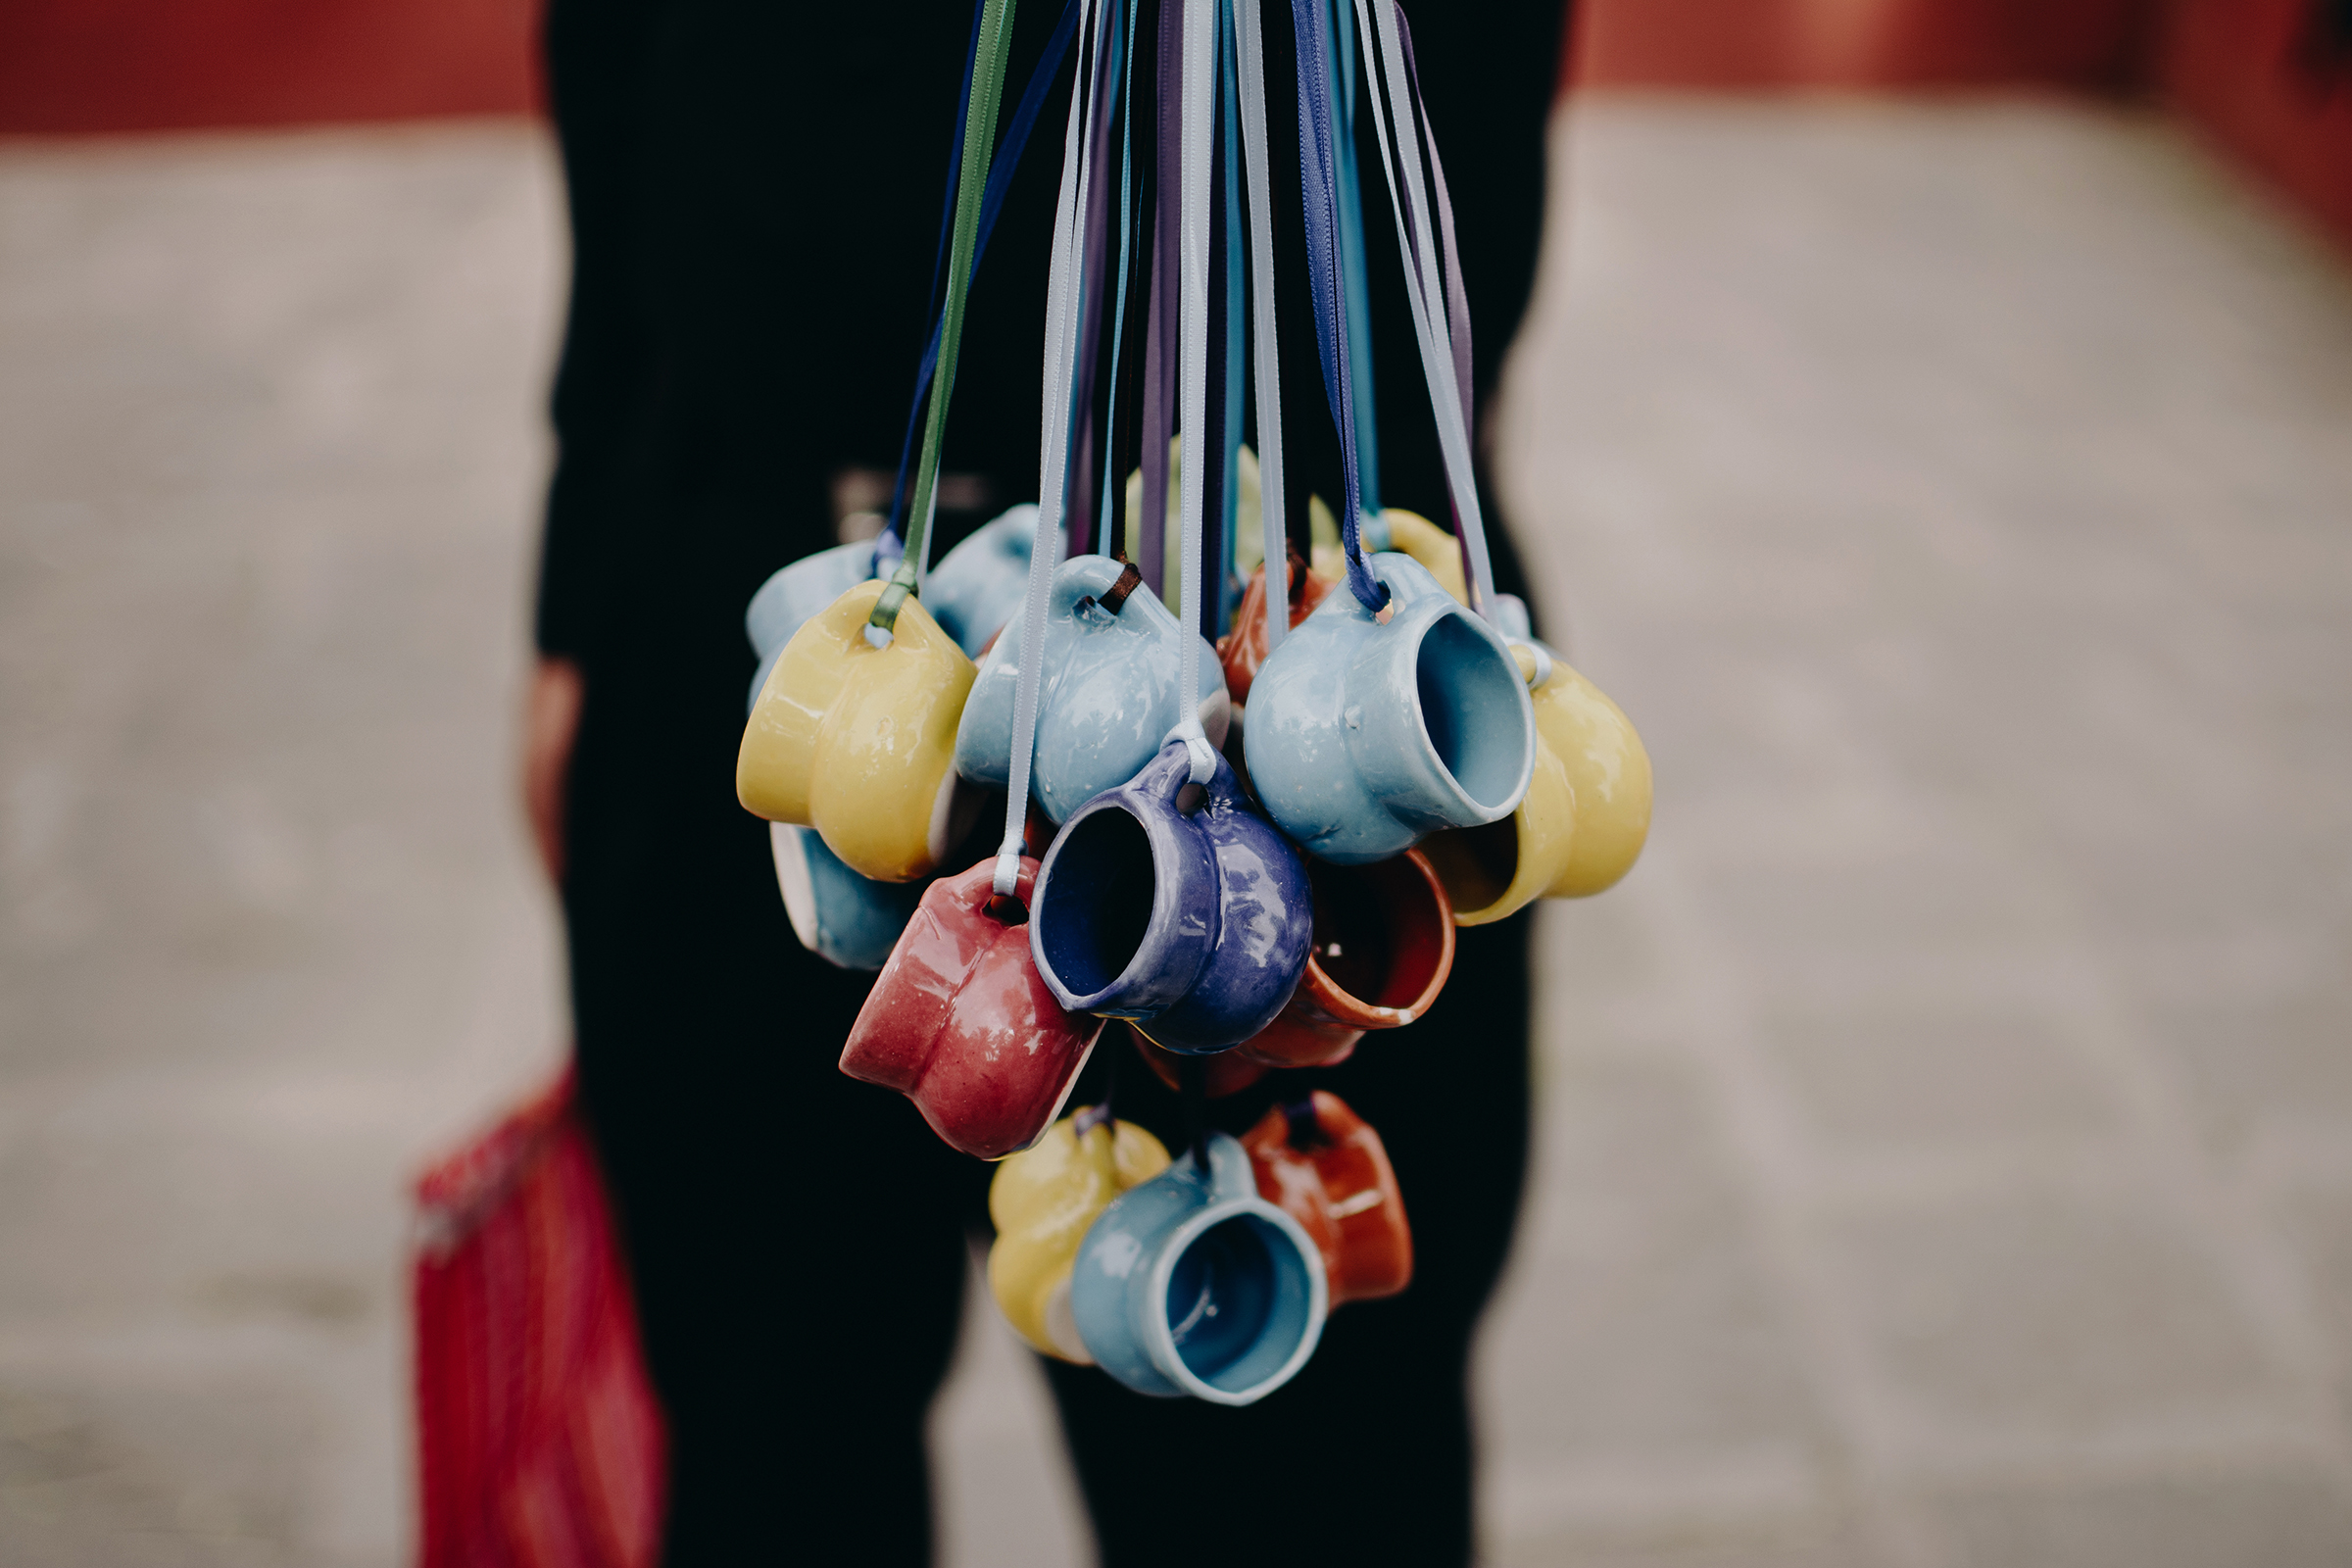
<path fill-rule="evenodd" d="M 1437 414 L 1437 444 L 1446 463 L 1446 489 L 1454 498 L 1454 531 L 1470 564 L 1470 607 L 1494 621 L 1494 559 L 1486 552 L 1486 520 L 1477 501 L 1477 473 L 1470 463 L 1470 306 L 1463 299 L 1461 259 L 1454 249 L 1454 205 L 1444 190 L 1444 167 L 1437 162 L 1437 136 L 1430 132 L 1421 87 L 1411 80 L 1411 45 L 1404 42 L 1404 16 L 1395 0 L 1355 0 L 1357 26 L 1378 49 L 1378 75 L 1397 125 L 1397 158 L 1388 146 L 1388 118 L 1378 89 L 1371 96 L 1374 129 L 1381 141 L 1381 169 L 1388 174 L 1388 205 L 1397 219 L 1397 249 L 1404 256 L 1404 294 L 1414 310 L 1414 336 L 1421 343 L 1421 369 L 1430 383 L 1430 409 Z M 1421 179 L 1428 153 L 1444 202 L 1439 223 L 1430 223 L 1430 197 Z M 1404 186 L 1397 186 L 1397 165 Z M 1454 277 L 1451 303 L 1444 273 L 1437 266 L 1432 228 L 1444 228 L 1446 263 Z M 1432 313 L 1446 310 L 1446 320 Z"/>

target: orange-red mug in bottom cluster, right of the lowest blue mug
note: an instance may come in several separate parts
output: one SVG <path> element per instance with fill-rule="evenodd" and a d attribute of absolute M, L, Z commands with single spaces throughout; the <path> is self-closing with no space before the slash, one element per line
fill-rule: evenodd
<path fill-rule="evenodd" d="M 1324 1260 L 1331 1307 L 1414 1279 L 1414 1229 L 1388 1150 L 1336 1093 L 1275 1105 L 1242 1135 L 1258 1194 L 1298 1220 Z"/>

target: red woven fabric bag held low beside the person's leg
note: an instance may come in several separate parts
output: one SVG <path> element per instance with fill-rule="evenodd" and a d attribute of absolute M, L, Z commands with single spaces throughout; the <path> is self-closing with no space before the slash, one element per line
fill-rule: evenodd
<path fill-rule="evenodd" d="M 423 1568 L 652 1568 L 668 1481 L 567 1070 L 416 1180 Z"/>

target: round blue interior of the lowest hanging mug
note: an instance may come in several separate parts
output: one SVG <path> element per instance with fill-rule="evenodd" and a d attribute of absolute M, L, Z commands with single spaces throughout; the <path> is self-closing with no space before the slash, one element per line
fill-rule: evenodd
<path fill-rule="evenodd" d="M 1298 1246 L 1237 1213 L 1200 1232 L 1169 1272 L 1169 1338 L 1185 1371 L 1225 1394 L 1279 1373 L 1308 1333 L 1312 1281 Z"/>

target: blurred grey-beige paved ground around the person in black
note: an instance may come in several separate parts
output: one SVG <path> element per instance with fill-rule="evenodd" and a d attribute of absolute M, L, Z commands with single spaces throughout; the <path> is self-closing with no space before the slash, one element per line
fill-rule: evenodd
<path fill-rule="evenodd" d="M 2352 280 L 2138 115 L 1597 101 L 1501 430 L 1658 827 L 1545 914 L 1496 1563 L 2352 1561 Z M 409 1552 L 557 1060 L 520 127 L 0 150 L 0 1561 Z M 1399 1039 L 1399 1048 L 1406 1048 Z M 974 1312 L 948 1561 L 1075 1563 Z"/>

